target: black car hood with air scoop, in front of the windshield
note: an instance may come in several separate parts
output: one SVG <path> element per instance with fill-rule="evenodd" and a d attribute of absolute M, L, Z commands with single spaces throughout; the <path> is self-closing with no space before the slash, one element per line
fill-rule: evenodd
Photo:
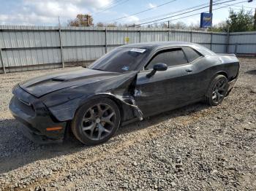
<path fill-rule="evenodd" d="M 86 85 L 93 82 L 117 77 L 121 73 L 80 68 L 75 71 L 62 71 L 21 82 L 23 90 L 37 98 L 67 87 Z"/>

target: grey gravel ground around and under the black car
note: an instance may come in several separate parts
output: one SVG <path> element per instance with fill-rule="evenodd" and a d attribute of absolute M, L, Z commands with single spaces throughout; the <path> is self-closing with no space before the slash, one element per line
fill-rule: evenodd
<path fill-rule="evenodd" d="M 12 86 L 49 72 L 0 75 L 0 190 L 256 190 L 256 59 L 241 58 L 220 106 L 165 112 L 96 147 L 40 146 L 20 132 Z"/>

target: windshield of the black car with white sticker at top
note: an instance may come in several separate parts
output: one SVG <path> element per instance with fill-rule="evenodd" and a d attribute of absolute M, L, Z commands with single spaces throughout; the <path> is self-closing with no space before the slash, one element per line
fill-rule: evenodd
<path fill-rule="evenodd" d="M 146 49 L 120 47 L 109 52 L 89 66 L 89 69 L 102 71 L 125 72 L 138 69 L 143 58 L 146 58 Z"/>

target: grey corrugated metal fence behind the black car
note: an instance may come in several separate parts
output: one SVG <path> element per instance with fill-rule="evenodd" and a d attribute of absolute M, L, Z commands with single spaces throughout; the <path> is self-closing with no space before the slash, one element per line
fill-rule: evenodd
<path fill-rule="evenodd" d="M 256 33 L 225 34 L 168 28 L 0 26 L 0 72 L 91 63 L 122 44 L 154 41 L 195 42 L 214 52 L 256 52 Z"/>

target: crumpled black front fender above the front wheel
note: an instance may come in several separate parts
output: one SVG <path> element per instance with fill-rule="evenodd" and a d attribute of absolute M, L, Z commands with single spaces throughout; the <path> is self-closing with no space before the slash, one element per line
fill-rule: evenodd
<path fill-rule="evenodd" d="M 53 117 L 60 122 L 72 120 L 80 106 L 93 99 L 103 97 L 116 102 L 121 112 L 121 122 L 143 120 L 143 113 L 133 97 L 136 79 L 137 72 L 132 71 L 93 84 L 69 87 L 59 92 L 50 93 L 42 100 Z"/>

